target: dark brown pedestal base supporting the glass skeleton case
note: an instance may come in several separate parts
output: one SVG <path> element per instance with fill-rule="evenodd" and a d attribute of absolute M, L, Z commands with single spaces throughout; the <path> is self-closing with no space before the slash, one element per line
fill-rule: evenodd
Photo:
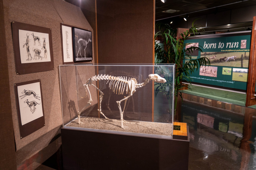
<path fill-rule="evenodd" d="M 187 140 L 93 130 L 61 129 L 64 169 L 188 169 L 188 130 Z"/>

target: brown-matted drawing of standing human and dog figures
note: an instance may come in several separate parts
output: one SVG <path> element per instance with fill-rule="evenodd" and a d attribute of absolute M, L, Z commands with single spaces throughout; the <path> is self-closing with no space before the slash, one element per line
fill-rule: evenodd
<path fill-rule="evenodd" d="M 12 37 L 17 74 L 54 69 L 50 28 L 13 21 Z"/>

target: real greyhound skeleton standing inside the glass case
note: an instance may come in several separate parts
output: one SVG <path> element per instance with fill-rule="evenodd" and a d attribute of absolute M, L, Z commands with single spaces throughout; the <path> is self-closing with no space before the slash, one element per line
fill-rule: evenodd
<path fill-rule="evenodd" d="M 125 104 L 124 104 L 124 109 L 125 109 L 125 106 L 126 106 L 126 101 L 129 97 L 131 97 L 134 93 L 135 93 L 135 89 L 136 88 L 139 88 L 139 87 L 143 87 L 145 86 L 146 84 L 149 83 L 150 80 L 152 81 L 155 81 L 155 82 L 158 82 L 158 83 L 165 83 L 166 80 L 162 77 L 160 77 L 159 75 L 157 74 L 149 74 L 149 78 L 147 78 L 144 83 L 140 83 L 138 84 L 137 83 L 137 80 L 135 78 L 128 78 L 127 80 L 127 77 L 125 76 L 108 76 L 108 75 L 97 75 L 97 76 L 93 76 L 91 78 L 89 78 L 86 83 L 84 84 L 84 87 L 85 89 L 88 91 L 89 93 L 89 101 L 88 101 L 88 104 L 81 110 L 83 111 L 86 107 L 89 107 L 91 106 L 91 102 L 93 101 L 92 100 L 92 97 L 91 97 L 91 94 L 90 94 L 90 91 L 89 91 L 89 86 L 92 85 L 94 86 L 100 93 L 99 95 L 99 109 L 98 111 L 100 112 L 100 114 L 102 114 L 106 119 L 108 119 L 101 111 L 101 101 L 103 99 L 103 92 L 98 89 L 95 85 L 92 84 L 93 81 L 99 81 L 99 80 L 108 80 L 107 83 L 109 83 L 109 88 L 113 90 L 113 92 L 115 94 L 128 94 L 127 97 L 124 97 L 122 100 L 120 101 L 117 101 L 117 105 L 118 105 L 118 108 L 119 108 L 119 111 L 120 111 L 120 116 L 121 116 L 121 128 L 127 128 L 126 126 L 123 126 L 123 114 L 124 114 L 124 111 L 122 111 L 121 109 L 121 102 L 122 101 L 125 101 Z M 123 109 L 123 110 L 124 110 Z M 79 124 L 82 124 L 80 122 L 80 112 L 78 111 L 78 123 Z"/>

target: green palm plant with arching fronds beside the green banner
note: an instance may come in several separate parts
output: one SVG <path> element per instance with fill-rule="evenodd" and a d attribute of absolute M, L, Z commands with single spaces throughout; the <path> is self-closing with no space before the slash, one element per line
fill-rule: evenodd
<path fill-rule="evenodd" d="M 195 22 L 195 21 L 194 21 Z M 186 30 L 181 34 L 181 38 L 176 39 L 177 37 L 177 29 L 172 29 L 169 24 L 157 23 L 156 29 L 159 30 L 154 39 L 161 39 L 163 43 L 156 42 L 155 43 L 155 57 L 156 63 L 174 63 L 175 64 L 175 87 L 174 94 L 172 91 L 167 90 L 168 84 L 171 85 L 167 80 L 167 84 L 156 84 L 155 94 L 157 95 L 159 92 L 165 94 L 169 105 L 170 105 L 170 113 L 171 113 L 171 105 L 172 98 L 174 95 L 174 113 L 176 113 L 178 97 L 181 97 L 182 93 L 181 89 L 186 87 L 190 89 L 190 86 L 182 83 L 182 81 L 186 81 L 191 84 L 192 79 L 190 78 L 190 74 L 194 71 L 197 71 L 203 65 L 209 65 L 210 61 L 206 57 L 201 57 L 199 59 L 193 59 L 191 54 L 198 50 L 199 52 L 203 52 L 200 46 L 193 46 L 191 43 L 184 43 L 184 41 L 190 36 L 191 33 L 198 32 L 199 25 L 192 23 L 192 27 Z M 179 36 L 178 36 L 179 37 Z"/>

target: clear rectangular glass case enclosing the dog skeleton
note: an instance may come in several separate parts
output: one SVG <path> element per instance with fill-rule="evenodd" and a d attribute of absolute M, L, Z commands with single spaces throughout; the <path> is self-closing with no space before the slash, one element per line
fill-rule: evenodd
<path fill-rule="evenodd" d="M 174 64 L 60 65 L 64 129 L 172 139 Z"/>

